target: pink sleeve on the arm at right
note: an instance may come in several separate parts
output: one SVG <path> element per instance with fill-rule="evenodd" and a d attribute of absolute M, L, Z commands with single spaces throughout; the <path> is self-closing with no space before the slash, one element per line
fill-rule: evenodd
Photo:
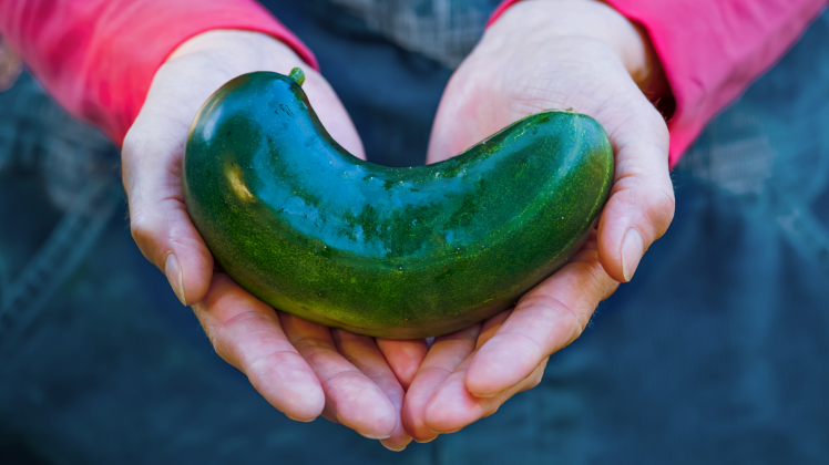
<path fill-rule="evenodd" d="M 490 24 L 519 0 L 501 3 Z M 826 0 L 604 0 L 642 24 L 676 100 L 671 166 L 705 124 L 791 46 Z"/>

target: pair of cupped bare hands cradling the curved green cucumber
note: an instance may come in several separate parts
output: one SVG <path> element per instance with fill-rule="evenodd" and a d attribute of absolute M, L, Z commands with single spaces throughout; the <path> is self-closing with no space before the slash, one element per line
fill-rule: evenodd
<path fill-rule="evenodd" d="M 216 352 L 287 416 L 321 414 L 392 450 L 412 436 L 429 441 L 538 384 L 546 358 L 581 334 L 598 301 L 631 279 L 667 228 L 674 199 L 667 130 L 637 86 L 659 89 L 653 63 L 639 32 L 612 9 L 538 0 L 508 10 L 458 69 L 438 111 L 430 163 L 529 113 L 572 107 L 607 131 L 616 184 L 597 234 L 570 265 L 514 311 L 439 338 L 428 354 L 422 340 L 375 340 L 274 311 L 214 272 L 187 216 L 181 166 L 190 124 L 222 84 L 250 71 L 287 74 L 303 66 L 304 89 L 325 127 L 346 149 L 364 154 L 330 86 L 267 35 L 197 35 L 156 73 L 123 145 L 133 237 L 193 307 Z"/>

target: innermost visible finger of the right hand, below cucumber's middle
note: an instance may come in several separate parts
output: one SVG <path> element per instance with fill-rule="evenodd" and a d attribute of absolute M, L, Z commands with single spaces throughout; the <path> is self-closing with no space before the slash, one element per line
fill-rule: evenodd
<path fill-rule="evenodd" d="M 475 348 L 481 324 L 437 338 L 406 393 L 403 426 L 415 441 L 429 442 L 438 435 L 424 421 L 426 405 L 431 395 Z"/>

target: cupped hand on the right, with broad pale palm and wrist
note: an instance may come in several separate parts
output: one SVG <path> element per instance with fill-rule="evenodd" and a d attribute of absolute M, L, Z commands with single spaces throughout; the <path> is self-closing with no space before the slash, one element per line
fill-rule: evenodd
<path fill-rule="evenodd" d="M 615 184 L 597 231 L 569 265 L 514 309 L 434 341 L 403 405 L 416 441 L 458 431 L 536 385 L 547 358 L 579 338 L 598 302 L 631 280 L 665 232 L 674 215 L 668 134 L 645 96 L 665 87 L 644 34 L 591 0 L 516 3 L 452 75 L 432 128 L 430 163 L 528 114 L 572 108 L 607 132 Z"/>

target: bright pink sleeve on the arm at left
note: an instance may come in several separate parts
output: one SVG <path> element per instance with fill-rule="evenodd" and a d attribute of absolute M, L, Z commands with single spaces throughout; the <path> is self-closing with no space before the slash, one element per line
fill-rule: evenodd
<path fill-rule="evenodd" d="M 254 0 L 3 0 L 0 35 L 70 113 L 121 144 L 155 71 L 214 29 L 264 32 L 310 66 L 310 51 Z"/>

